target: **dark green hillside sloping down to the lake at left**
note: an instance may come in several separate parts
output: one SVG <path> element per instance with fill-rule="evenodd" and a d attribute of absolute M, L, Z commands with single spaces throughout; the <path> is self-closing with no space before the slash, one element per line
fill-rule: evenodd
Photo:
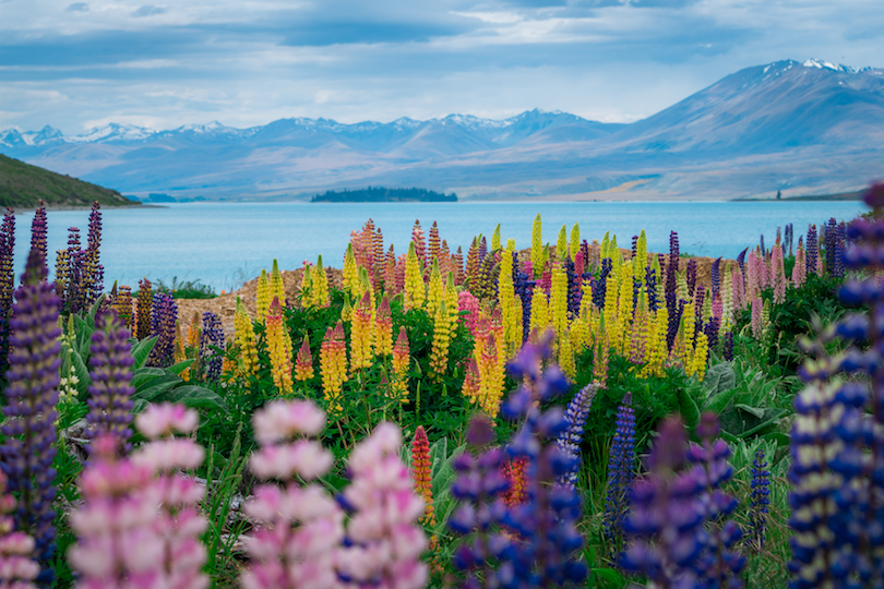
<path fill-rule="evenodd" d="M 0 206 L 35 208 L 39 200 L 50 207 L 89 206 L 95 201 L 105 206 L 141 204 L 128 200 L 116 190 L 0 155 Z"/>

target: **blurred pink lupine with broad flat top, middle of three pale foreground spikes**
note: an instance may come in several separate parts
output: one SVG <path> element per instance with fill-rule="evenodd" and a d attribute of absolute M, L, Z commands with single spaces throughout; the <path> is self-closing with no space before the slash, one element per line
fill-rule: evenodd
<path fill-rule="evenodd" d="M 240 577 L 242 588 L 341 587 L 335 564 L 344 513 L 312 482 L 328 471 L 333 457 L 308 437 L 325 428 L 325 413 L 311 401 L 276 400 L 255 411 L 252 424 L 261 449 L 251 469 L 279 484 L 259 485 L 246 503 L 246 514 L 263 526 L 248 539 L 252 564 Z"/>

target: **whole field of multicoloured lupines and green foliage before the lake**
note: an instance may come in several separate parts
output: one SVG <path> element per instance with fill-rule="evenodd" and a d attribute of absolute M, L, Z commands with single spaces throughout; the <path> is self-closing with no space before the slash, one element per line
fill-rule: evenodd
<path fill-rule="evenodd" d="M 232 329 L 0 226 L 0 584 L 884 586 L 884 184 L 707 272 L 369 220 Z M 52 229 L 57 230 L 57 229 Z M 397 244 L 398 245 L 398 244 Z M 48 264 L 55 281 L 48 281 Z M 705 268 L 703 268 L 705 271 Z M 20 278 L 20 279 L 19 279 Z M 250 311 L 251 310 L 251 311 Z"/>

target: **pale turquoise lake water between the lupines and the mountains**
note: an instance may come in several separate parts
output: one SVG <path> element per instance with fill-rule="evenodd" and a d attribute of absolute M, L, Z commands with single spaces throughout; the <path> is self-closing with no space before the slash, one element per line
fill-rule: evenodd
<path fill-rule="evenodd" d="M 758 243 L 762 233 L 772 244 L 777 227 L 792 223 L 796 243 L 808 224 L 829 217 L 850 219 L 864 212 L 861 202 L 693 202 L 693 203 L 187 203 L 167 207 L 107 208 L 103 211 L 101 263 L 105 285 L 114 280 L 133 290 L 142 277 L 152 281 L 201 280 L 217 291 L 239 288 L 270 271 L 273 259 L 280 269 L 300 267 L 322 255 L 326 266 L 342 267 L 350 231 L 369 217 L 383 229 L 384 241 L 405 253 L 415 219 L 429 236 L 433 220 L 452 251 L 464 254 L 473 236 L 491 233 L 501 224 L 503 243 L 515 238 L 528 248 L 531 225 L 543 219 L 543 241 L 556 243 L 559 229 L 580 223 L 581 237 L 601 240 L 617 235 L 621 248 L 645 229 L 648 251 L 668 252 L 669 232 L 678 231 L 682 253 L 734 257 Z M 16 216 L 17 275 L 31 243 L 33 213 Z M 68 228 L 80 227 L 85 247 L 88 211 L 48 213 L 50 269 L 57 250 L 67 248 Z"/>

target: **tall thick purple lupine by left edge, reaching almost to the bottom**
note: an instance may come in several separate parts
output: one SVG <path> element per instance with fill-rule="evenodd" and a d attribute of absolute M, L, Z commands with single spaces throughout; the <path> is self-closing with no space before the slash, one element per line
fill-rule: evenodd
<path fill-rule="evenodd" d="M 34 537 L 40 564 L 37 582 L 44 587 L 50 586 L 53 578 L 52 460 L 61 365 L 58 297 L 55 285 L 46 281 L 46 274 L 39 252 L 32 250 L 12 305 L 8 405 L 3 408 L 7 421 L 2 426 L 7 440 L 0 447 L 10 490 L 20 496 L 15 527 Z"/>

